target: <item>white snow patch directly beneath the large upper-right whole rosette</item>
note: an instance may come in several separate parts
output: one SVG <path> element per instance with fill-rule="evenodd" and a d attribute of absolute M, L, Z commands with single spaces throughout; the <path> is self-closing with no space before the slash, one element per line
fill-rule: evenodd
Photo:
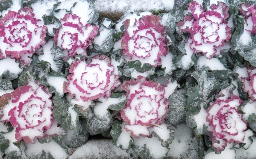
<path fill-rule="evenodd" d="M 198 68 L 209 67 L 211 70 L 227 70 L 218 58 L 207 59 L 206 56 L 200 56 L 197 62 Z"/>

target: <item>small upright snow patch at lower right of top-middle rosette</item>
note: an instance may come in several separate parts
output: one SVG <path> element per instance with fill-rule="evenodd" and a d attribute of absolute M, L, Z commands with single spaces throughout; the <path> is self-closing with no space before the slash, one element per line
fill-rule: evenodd
<path fill-rule="evenodd" d="M 167 54 L 166 56 L 160 56 L 162 62 L 162 68 L 165 68 L 164 70 L 164 75 L 171 73 L 173 70 L 175 70 L 175 66 L 173 64 L 173 54 L 171 54 L 171 52 L 169 52 L 169 54 Z"/>

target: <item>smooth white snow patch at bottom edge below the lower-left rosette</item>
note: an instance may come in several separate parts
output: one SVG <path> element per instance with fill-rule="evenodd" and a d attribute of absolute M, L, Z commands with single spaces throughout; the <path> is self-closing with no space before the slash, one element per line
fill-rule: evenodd
<path fill-rule="evenodd" d="M 68 157 L 67 152 L 53 140 L 50 143 L 39 143 L 36 140 L 36 143 L 25 144 L 25 146 L 25 153 L 30 158 L 40 158 L 43 151 L 46 154 L 50 153 L 54 159 L 65 159 Z"/>

